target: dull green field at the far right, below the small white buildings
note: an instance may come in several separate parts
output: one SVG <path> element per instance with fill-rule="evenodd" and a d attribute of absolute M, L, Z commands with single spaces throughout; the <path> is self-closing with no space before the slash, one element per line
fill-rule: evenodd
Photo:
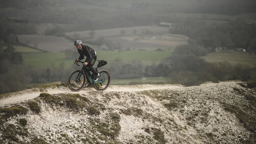
<path fill-rule="evenodd" d="M 247 65 L 250 68 L 256 68 L 256 55 L 249 54 L 247 52 L 240 51 L 221 51 L 221 52 L 212 52 L 207 56 L 203 56 L 203 59 L 209 63 L 217 62 L 229 62 L 233 65 L 242 64 Z"/>

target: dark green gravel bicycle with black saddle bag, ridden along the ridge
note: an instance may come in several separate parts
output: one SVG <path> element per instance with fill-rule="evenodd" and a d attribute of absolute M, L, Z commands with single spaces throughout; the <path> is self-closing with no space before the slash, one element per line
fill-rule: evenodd
<path fill-rule="evenodd" d="M 90 85 L 93 85 L 93 87 L 97 91 L 104 91 L 108 88 L 108 85 L 110 83 L 110 74 L 107 70 L 100 70 L 98 71 L 98 68 L 104 66 L 107 64 L 104 60 L 98 61 L 97 68 L 94 68 L 99 74 L 99 80 L 94 82 L 95 74 L 87 70 L 88 68 L 84 65 L 82 65 L 82 69 L 74 70 L 70 73 L 68 78 L 68 87 L 73 92 L 78 92 L 83 88 L 89 87 Z M 84 63 L 81 61 L 75 62 L 74 64 L 78 65 L 77 63 Z M 91 74 L 92 73 L 92 74 Z"/>

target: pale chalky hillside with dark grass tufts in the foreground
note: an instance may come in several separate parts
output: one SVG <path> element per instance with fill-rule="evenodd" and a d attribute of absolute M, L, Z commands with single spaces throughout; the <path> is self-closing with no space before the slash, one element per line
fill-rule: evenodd
<path fill-rule="evenodd" d="M 0 95 L 0 143 L 255 143 L 254 82 Z"/>

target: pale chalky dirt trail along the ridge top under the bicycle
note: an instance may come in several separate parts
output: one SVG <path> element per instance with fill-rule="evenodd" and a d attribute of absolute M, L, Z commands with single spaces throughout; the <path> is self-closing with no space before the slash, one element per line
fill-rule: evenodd
<path fill-rule="evenodd" d="M 136 91 L 147 91 L 147 90 L 164 90 L 164 89 L 177 89 L 183 87 L 182 85 L 174 84 L 137 84 L 137 85 L 110 85 L 104 92 L 136 92 Z M 88 94 L 89 92 L 97 92 L 94 88 L 86 88 L 79 92 L 72 92 L 68 88 L 55 88 L 46 89 L 43 92 L 21 92 L 22 94 L 17 94 L 8 98 L 0 99 L 0 106 L 19 103 L 22 101 L 34 99 L 40 95 L 40 93 L 49 94 L 60 94 L 60 93 L 76 93 L 76 94 Z M 103 93 L 104 93 L 103 92 Z"/>

